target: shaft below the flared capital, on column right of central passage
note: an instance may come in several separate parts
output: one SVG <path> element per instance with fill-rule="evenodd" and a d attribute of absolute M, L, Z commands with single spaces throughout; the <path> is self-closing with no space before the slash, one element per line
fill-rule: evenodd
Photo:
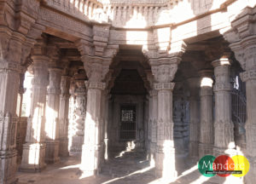
<path fill-rule="evenodd" d="M 156 175 L 174 179 L 177 176 L 174 161 L 172 120 L 172 89 L 174 83 L 155 83 L 154 87 L 158 90 Z"/>

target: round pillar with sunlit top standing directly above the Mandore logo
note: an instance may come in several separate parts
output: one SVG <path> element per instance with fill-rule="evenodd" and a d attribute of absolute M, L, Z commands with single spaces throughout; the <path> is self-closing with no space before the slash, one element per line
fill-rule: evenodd
<path fill-rule="evenodd" d="M 234 124 L 231 118 L 230 60 L 222 58 L 212 61 L 215 84 L 214 148 L 215 156 L 235 153 Z"/>

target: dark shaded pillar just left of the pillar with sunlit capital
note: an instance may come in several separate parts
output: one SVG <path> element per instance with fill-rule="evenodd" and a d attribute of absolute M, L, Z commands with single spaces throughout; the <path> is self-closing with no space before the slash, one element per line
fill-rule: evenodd
<path fill-rule="evenodd" d="M 189 124 L 189 158 L 193 161 L 198 161 L 198 146 L 199 146 L 199 130 L 200 130 L 200 78 L 189 78 L 189 109 L 190 109 L 190 124 Z"/>

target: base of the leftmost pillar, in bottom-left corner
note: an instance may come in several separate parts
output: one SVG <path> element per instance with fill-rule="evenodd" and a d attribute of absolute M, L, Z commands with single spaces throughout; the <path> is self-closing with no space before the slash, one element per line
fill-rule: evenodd
<path fill-rule="evenodd" d="M 13 184 L 18 181 L 15 178 L 17 171 L 17 152 L 14 151 L 1 151 L 0 152 L 0 181 L 3 184 Z"/>

